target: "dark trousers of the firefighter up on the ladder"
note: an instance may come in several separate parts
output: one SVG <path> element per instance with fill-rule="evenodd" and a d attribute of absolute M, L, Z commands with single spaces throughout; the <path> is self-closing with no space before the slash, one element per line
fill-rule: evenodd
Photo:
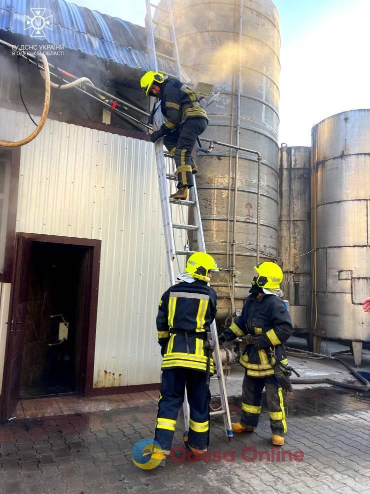
<path fill-rule="evenodd" d="M 187 118 L 178 128 L 163 138 L 163 144 L 168 152 L 174 156 L 177 174 L 177 188 L 192 187 L 192 172 L 196 165 L 191 152 L 196 144 L 197 137 L 205 131 L 207 121 L 201 117 Z"/>

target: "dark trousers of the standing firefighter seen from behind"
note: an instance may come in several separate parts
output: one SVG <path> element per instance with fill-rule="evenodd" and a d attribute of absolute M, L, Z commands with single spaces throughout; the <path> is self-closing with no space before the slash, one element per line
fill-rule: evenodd
<path fill-rule="evenodd" d="M 175 367 L 162 371 L 155 441 L 169 454 L 185 387 L 190 408 L 187 444 L 192 450 L 206 451 L 209 444 L 209 386 L 200 370 Z"/>

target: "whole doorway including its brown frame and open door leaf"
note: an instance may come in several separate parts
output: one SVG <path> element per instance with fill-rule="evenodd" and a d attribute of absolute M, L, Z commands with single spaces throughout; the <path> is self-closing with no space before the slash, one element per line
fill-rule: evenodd
<path fill-rule="evenodd" d="M 92 388 L 100 241 L 17 234 L 1 418 L 18 398 Z"/>

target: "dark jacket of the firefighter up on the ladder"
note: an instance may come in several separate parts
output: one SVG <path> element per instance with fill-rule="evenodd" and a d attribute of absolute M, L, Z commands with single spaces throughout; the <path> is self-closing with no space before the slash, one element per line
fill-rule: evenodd
<path fill-rule="evenodd" d="M 164 124 L 160 127 L 163 135 L 178 127 L 187 118 L 201 117 L 208 122 L 207 114 L 199 105 L 195 93 L 178 79 L 166 79 L 160 85 L 158 98 L 164 116 Z"/>

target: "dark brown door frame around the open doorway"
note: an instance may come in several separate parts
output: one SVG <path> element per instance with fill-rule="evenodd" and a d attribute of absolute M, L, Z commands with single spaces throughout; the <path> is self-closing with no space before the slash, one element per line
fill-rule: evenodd
<path fill-rule="evenodd" d="M 86 296 L 84 301 L 83 329 L 82 329 L 83 344 L 81 345 L 81 363 L 80 363 L 79 376 L 78 376 L 77 392 L 82 396 L 89 396 L 92 393 L 92 386 L 93 386 L 101 240 L 20 232 L 20 233 L 16 233 L 15 245 L 18 244 L 19 237 L 29 239 L 31 242 L 46 242 L 50 244 L 65 244 L 65 245 L 74 245 L 74 246 L 81 246 L 88 248 Z M 15 252 L 16 258 L 18 258 L 19 255 L 20 252 Z M 16 265 L 17 263 L 15 262 L 13 268 L 12 284 L 10 289 L 8 321 L 11 321 L 11 317 L 14 313 L 14 308 L 15 308 L 14 281 L 15 281 L 15 276 L 18 274 L 15 272 Z M 89 290 L 88 287 L 90 287 Z M 1 411 L 2 420 L 6 420 L 8 418 L 6 416 L 8 413 L 6 396 L 8 396 L 9 394 L 9 386 L 10 386 L 9 369 L 12 358 L 12 342 L 9 334 L 9 329 L 10 329 L 10 325 L 8 324 L 8 332 L 6 334 L 6 343 L 5 343 L 4 371 L 3 371 L 1 397 L 0 397 L 0 411 Z"/>

